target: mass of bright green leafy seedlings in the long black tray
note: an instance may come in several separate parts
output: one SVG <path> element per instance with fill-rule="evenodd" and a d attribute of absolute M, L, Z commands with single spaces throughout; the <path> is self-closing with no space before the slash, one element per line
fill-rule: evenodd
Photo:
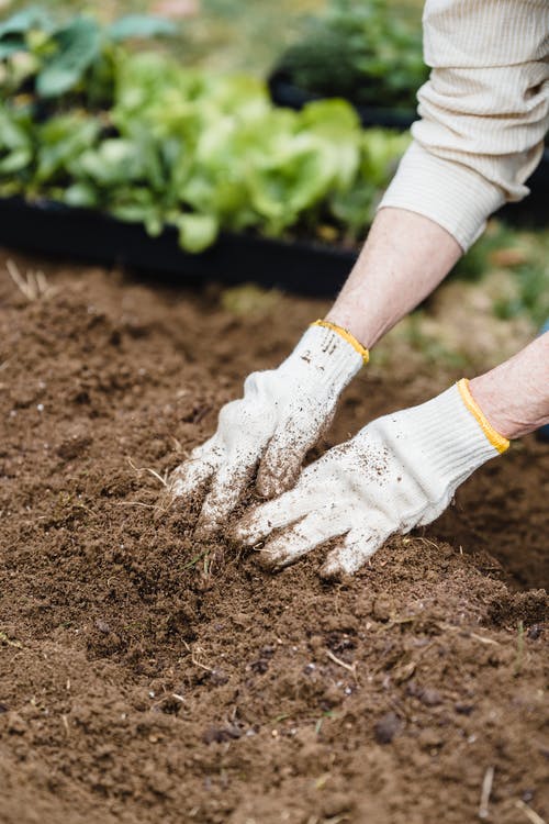
<path fill-rule="evenodd" d="M 152 31 L 164 32 L 132 18 L 114 36 Z M 152 234 L 171 224 L 189 252 L 221 230 L 311 235 L 323 225 L 352 241 L 408 142 L 363 131 L 341 100 L 282 110 L 248 76 L 111 41 L 105 52 L 90 18 L 33 29 L 31 40 L 34 87 L 21 93 L 20 80 L 0 103 L 0 193 L 101 209 Z"/>

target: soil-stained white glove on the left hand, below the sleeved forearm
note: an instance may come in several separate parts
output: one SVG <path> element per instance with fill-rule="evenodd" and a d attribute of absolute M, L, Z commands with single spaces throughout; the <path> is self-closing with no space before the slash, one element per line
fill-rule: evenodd
<path fill-rule="evenodd" d="M 171 494 L 183 499 L 210 487 L 199 536 L 224 525 L 258 466 L 257 491 L 265 498 L 294 483 L 305 454 L 332 423 L 339 394 L 367 360 L 350 333 L 317 321 L 278 369 L 246 379 L 244 398 L 221 410 L 216 433 L 170 479 Z"/>

